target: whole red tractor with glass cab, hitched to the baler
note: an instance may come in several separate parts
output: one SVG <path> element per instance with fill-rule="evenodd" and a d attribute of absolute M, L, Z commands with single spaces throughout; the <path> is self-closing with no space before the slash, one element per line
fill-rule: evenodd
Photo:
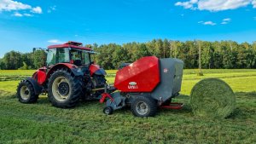
<path fill-rule="evenodd" d="M 55 107 L 74 107 L 80 99 L 96 99 L 104 92 L 106 72 L 91 61 L 96 54 L 82 43 L 68 42 L 47 49 L 47 65 L 32 78 L 18 85 L 17 97 L 22 103 L 38 101 L 38 95 L 48 93 Z"/>

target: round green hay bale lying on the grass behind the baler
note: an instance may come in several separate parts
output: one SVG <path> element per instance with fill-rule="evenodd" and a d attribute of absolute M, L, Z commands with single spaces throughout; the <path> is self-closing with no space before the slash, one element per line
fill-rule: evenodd
<path fill-rule="evenodd" d="M 190 104 L 195 115 L 207 118 L 226 118 L 235 109 L 236 97 L 223 80 L 207 78 L 191 90 Z"/>

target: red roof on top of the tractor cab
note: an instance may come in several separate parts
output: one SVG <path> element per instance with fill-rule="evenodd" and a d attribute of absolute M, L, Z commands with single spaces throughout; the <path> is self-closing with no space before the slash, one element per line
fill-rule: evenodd
<path fill-rule="evenodd" d="M 55 49 L 55 48 L 73 48 L 73 49 L 82 49 L 82 50 L 91 50 L 90 48 L 83 47 L 83 43 L 69 41 L 63 44 L 56 44 L 56 45 L 49 45 L 48 49 Z"/>

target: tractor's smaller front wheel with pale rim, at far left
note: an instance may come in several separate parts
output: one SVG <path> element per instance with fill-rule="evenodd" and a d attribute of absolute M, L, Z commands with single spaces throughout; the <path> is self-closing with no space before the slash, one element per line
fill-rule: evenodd
<path fill-rule="evenodd" d="M 38 101 L 38 95 L 35 94 L 35 90 L 28 81 L 22 80 L 17 88 L 17 97 L 21 103 L 35 103 Z"/>

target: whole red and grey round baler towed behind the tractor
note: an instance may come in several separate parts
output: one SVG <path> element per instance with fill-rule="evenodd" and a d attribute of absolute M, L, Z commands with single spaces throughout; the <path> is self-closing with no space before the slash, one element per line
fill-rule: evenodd
<path fill-rule="evenodd" d="M 183 104 L 170 104 L 179 95 L 183 78 L 183 61 L 155 56 L 143 57 L 120 69 L 115 76 L 115 92 L 103 93 L 101 102 L 106 98 L 103 112 L 130 106 L 137 117 L 154 116 L 158 107 L 178 109 Z"/>

